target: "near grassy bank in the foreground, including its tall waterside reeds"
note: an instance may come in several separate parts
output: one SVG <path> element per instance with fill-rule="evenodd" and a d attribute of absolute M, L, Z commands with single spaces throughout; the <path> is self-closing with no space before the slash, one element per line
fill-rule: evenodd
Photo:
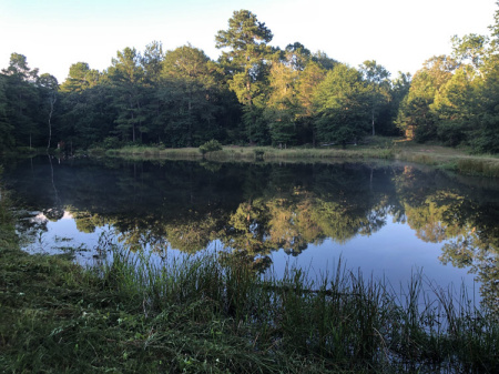
<path fill-rule="evenodd" d="M 0 250 L 6 373 L 499 370 L 498 321 L 466 295 L 421 303 L 421 274 L 400 292 L 340 264 L 261 277 L 244 256 L 154 265 L 113 244 L 112 262 L 83 270 L 14 244 Z"/>

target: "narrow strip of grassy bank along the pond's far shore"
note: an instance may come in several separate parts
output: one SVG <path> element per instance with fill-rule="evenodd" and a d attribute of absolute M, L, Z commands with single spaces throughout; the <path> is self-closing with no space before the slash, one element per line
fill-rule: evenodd
<path fill-rule="evenodd" d="M 125 146 L 116 150 L 94 150 L 96 154 L 108 154 L 131 159 L 201 160 L 196 148 L 162 149 L 154 146 Z M 267 162 L 329 162 L 332 160 L 384 159 L 422 163 L 467 175 L 499 176 L 499 158 L 472 155 L 466 150 L 439 145 L 417 144 L 391 138 L 374 137 L 365 144 L 327 148 L 276 149 L 271 146 L 224 146 L 222 151 L 204 155 L 212 161 Z"/>

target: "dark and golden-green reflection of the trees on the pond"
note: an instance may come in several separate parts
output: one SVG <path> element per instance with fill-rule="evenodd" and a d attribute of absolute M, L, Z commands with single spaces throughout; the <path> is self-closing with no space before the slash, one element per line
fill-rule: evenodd
<path fill-rule="evenodd" d="M 344 244 L 388 220 L 405 223 L 421 241 L 441 243 L 439 260 L 476 273 L 483 302 L 499 305 L 495 181 L 399 164 L 52 164 L 47 158 L 10 163 L 4 179 L 29 211 L 55 221 L 70 212 L 84 233 L 109 225 L 131 251 L 196 253 L 217 241 L 261 271 L 277 250 L 299 256 L 326 239 Z"/>

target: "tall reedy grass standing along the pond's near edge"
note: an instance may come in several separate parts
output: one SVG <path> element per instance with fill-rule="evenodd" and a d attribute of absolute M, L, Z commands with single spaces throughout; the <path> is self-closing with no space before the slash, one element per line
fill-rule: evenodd
<path fill-rule="evenodd" d="M 312 280 L 297 267 L 261 276 L 225 253 L 157 263 L 118 250 L 104 279 L 146 317 L 183 305 L 196 323 L 217 321 L 213 337 L 243 338 L 248 355 L 309 356 L 343 370 L 499 370 L 497 319 L 466 294 L 425 293 L 421 273 L 396 292 L 340 263 Z"/>

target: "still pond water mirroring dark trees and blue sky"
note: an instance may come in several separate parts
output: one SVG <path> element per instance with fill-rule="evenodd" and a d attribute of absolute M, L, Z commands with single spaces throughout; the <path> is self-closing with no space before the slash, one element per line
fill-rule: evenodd
<path fill-rule="evenodd" d="M 324 274 L 339 259 L 395 287 L 499 297 L 499 183 L 404 163 L 61 161 L 4 163 L 23 203 L 29 252 L 100 261 L 99 240 L 180 255 L 243 252 L 262 271 L 295 264 Z M 74 251 L 77 249 L 77 251 Z"/>

